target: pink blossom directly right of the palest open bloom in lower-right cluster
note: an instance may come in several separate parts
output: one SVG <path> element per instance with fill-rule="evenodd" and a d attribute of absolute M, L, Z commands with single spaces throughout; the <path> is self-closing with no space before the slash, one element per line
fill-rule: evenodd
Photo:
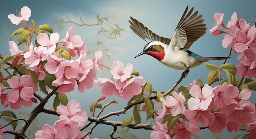
<path fill-rule="evenodd" d="M 222 85 L 217 85 L 213 88 L 213 102 L 217 108 L 223 108 L 225 105 L 229 105 L 232 99 L 235 98 L 234 92 L 232 92 L 232 87 L 234 86 L 225 82 Z"/>

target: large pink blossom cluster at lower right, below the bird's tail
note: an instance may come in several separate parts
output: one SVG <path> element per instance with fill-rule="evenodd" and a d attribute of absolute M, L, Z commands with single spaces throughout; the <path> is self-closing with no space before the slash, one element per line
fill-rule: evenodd
<path fill-rule="evenodd" d="M 171 139 L 172 132 L 175 133 L 175 139 L 190 139 L 191 135 L 196 135 L 202 126 L 209 126 L 211 132 L 221 133 L 227 128 L 229 132 L 237 132 L 241 125 L 249 125 L 252 130 L 255 129 L 256 111 L 255 105 L 247 101 L 252 94 L 249 89 L 243 89 L 239 92 L 238 87 L 229 85 L 227 82 L 212 88 L 205 84 L 200 89 L 197 83 L 191 83 L 191 98 L 187 101 L 187 107 L 184 105 L 185 97 L 180 92 L 173 92 L 173 96 L 167 96 L 166 100 L 161 98 L 163 109 L 158 110 L 159 116 L 155 119 L 157 124 L 153 127 L 155 131 L 151 132 L 152 139 L 166 137 Z M 184 119 L 172 128 L 168 129 L 167 122 L 159 123 L 167 114 L 177 116 L 184 114 L 189 120 L 189 125 Z M 251 133 L 251 136 L 255 137 Z"/>

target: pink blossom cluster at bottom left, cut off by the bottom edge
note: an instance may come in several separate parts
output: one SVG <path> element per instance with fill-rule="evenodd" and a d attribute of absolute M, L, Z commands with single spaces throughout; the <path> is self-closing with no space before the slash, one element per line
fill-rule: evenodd
<path fill-rule="evenodd" d="M 86 134 L 77 129 L 84 125 L 88 116 L 76 100 L 72 99 L 67 106 L 57 106 L 57 113 L 60 119 L 54 123 L 55 128 L 45 124 L 36 132 L 36 139 L 81 139 Z M 85 139 L 89 139 L 89 136 Z"/>

